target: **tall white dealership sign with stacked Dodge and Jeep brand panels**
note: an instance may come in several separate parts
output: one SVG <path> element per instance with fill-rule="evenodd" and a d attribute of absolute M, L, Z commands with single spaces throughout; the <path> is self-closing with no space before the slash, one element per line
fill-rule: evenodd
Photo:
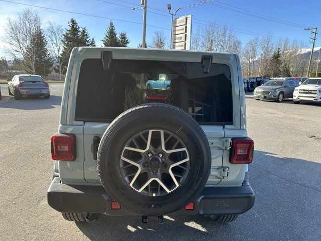
<path fill-rule="evenodd" d="M 192 15 L 176 18 L 172 25 L 171 49 L 191 49 Z"/>

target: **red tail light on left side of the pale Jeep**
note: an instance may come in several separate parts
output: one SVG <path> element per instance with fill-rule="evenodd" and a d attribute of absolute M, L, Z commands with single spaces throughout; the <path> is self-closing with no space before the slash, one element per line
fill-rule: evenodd
<path fill-rule="evenodd" d="M 51 158 L 59 161 L 76 159 L 76 139 L 74 135 L 55 134 L 51 137 Z"/>

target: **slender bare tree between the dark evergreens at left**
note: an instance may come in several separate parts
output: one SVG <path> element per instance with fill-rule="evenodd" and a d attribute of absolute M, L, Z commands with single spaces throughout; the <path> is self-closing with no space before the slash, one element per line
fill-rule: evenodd
<path fill-rule="evenodd" d="M 64 30 L 61 25 L 57 25 L 52 22 L 48 22 L 49 26 L 46 31 L 46 36 L 49 40 L 49 51 L 51 56 L 54 59 L 54 64 L 57 70 L 59 71 L 59 77 L 62 79 L 63 71 L 63 61 L 64 59 L 61 56 L 63 49 L 63 33 Z"/>

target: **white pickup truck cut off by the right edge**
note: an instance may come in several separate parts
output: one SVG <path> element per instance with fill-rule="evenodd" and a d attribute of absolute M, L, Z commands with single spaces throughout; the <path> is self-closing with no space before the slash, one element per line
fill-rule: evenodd
<path fill-rule="evenodd" d="M 321 78 L 309 78 L 294 89 L 294 104 L 301 101 L 321 102 Z"/>

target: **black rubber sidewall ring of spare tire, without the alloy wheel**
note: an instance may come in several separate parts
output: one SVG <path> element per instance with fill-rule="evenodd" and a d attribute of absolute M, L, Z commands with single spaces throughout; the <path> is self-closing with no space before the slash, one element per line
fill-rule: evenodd
<path fill-rule="evenodd" d="M 127 209 L 142 214 L 166 214 L 192 201 L 203 189 L 211 165 L 208 141 L 199 135 L 195 123 L 182 119 L 179 114 L 166 114 L 163 109 L 137 111 L 122 117 L 127 121 L 118 123 L 111 132 L 107 129 L 105 139 L 99 145 L 98 173 L 106 191 Z M 119 159 L 124 145 L 136 133 L 149 129 L 175 133 L 189 151 L 190 171 L 186 180 L 176 190 L 164 196 L 139 194 L 123 180 L 120 173 Z"/>

